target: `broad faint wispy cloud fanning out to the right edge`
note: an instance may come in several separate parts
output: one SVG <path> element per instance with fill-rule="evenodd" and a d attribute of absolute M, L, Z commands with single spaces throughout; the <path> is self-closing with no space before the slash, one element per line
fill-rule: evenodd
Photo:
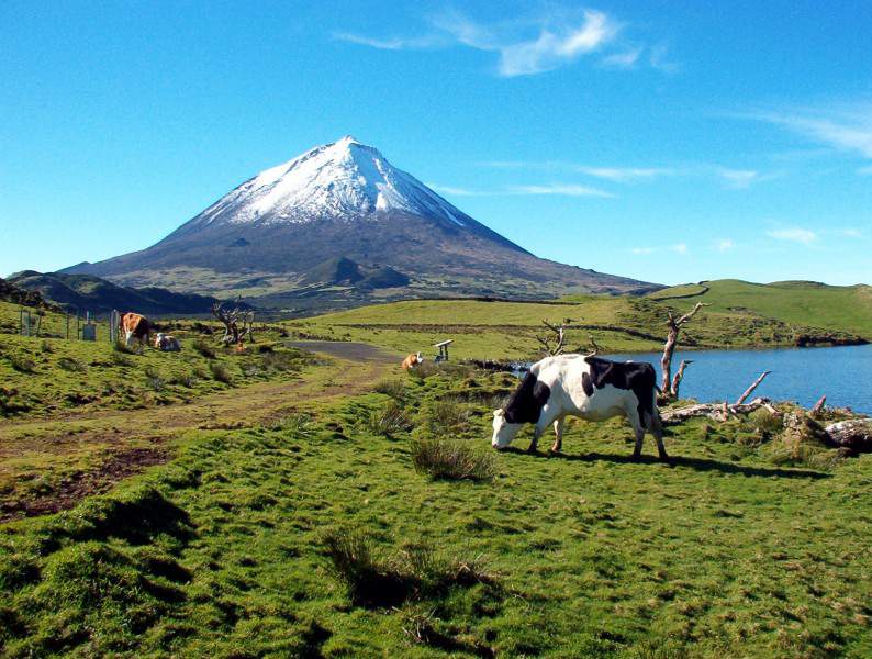
<path fill-rule="evenodd" d="M 872 100 L 763 110 L 738 116 L 782 126 L 831 148 L 872 158 Z"/>

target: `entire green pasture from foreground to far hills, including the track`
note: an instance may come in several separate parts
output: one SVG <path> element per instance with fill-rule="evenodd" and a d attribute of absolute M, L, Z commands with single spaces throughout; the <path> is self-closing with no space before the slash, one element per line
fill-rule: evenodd
<path fill-rule="evenodd" d="M 617 420 L 570 423 L 558 456 L 496 454 L 515 379 L 399 369 L 448 336 L 452 358 L 534 356 L 541 319 L 597 327 L 571 348 L 656 349 L 667 310 L 706 298 L 683 346 L 794 336 L 796 284 L 705 286 L 374 305 L 243 355 L 190 321 L 176 355 L 21 337 L 0 303 L 0 657 L 872 656 L 869 456 L 765 414 L 671 426 L 672 466 L 650 439 L 629 460 Z M 809 326 L 838 331 L 832 295 L 853 294 L 838 322 L 865 332 L 862 289 L 809 297 Z M 283 345 L 300 338 L 389 350 Z M 431 478 L 434 456 L 471 478 Z"/>

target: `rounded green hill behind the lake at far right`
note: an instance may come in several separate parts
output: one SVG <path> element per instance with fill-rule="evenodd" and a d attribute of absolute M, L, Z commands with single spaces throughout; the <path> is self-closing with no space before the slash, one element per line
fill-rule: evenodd
<path fill-rule="evenodd" d="M 752 313 L 797 326 L 859 334 L 872 340 L 872 287 L 827 286 L 810 281 L 751 283 L 737 279 L 705 281 L 650 293 L 651 300 L 706 302 L 717 313 Z M 693 297 L 686 297 L 693 295 Z"/>

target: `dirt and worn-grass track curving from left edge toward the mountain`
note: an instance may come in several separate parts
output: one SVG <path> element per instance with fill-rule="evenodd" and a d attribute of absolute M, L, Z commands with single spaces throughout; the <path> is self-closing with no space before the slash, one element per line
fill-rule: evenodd
<path fill-rule="evenodd" d="M 145 410 L 99 410 L 0 426 L 0 523 L 54 513 L 172 458 L 189 429 L 269 423 L 306 406 L 355 395 L 398 369 L 398 356 L 367 344 L 299 342 L 328 356 L 287 380 L 259 382 Z M 38 488 L 30 488 L 38 482 Z M 46 491 L 46 485 L 48 485 Z"/>

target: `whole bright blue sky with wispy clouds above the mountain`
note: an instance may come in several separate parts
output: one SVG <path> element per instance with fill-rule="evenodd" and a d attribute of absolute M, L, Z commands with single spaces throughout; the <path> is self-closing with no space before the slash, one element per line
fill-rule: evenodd
<path fill-rule="evenodd" d="M 0 3 L 0 273 L 345 134 L 535 254 L 872 283 L 872 3 Z"/>

